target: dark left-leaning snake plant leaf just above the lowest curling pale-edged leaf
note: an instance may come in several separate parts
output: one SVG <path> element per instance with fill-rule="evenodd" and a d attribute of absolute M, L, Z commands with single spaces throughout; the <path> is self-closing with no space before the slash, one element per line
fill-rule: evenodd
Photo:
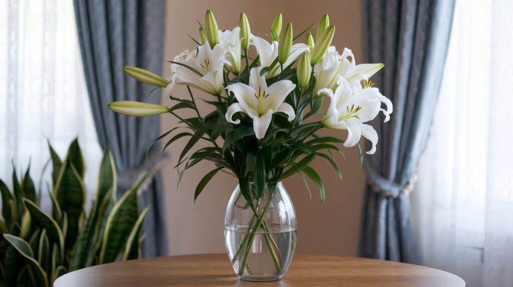
<path fill-rule="evenodd" d="M 61 228 L 53 218 L 46 215 L 35 203 L 25 199 L 25 206 L 30 212 L 32 222 L 41 229 L 46 229 L 46 234 L 52 242 L 55 242 L 59 249 L 60 260 L 64 260 L 64 235 Z"/>

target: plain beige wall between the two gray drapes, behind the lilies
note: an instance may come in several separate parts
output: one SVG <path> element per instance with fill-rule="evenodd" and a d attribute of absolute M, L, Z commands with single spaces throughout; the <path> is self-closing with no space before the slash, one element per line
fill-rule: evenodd
<path fill-rule="evenodd" d="M 356 58 L 361 58 L 361 12 L 359 1 L 186 1 L 170 0 L 167 5 L 164 60 L 173 57 L 185 48 L 194 48 L 186 35 L 197 37 L 196 19 L 204 21 L 205 11 L 211 9 L 221 29 L 232 29 L 238 24 L 239 14 L 245 12 L 252 32 L 261 30 L 264 36 L 273 18 L 283 13 L 284 24 L 292 21 L 294 32 L 299 33 L 324 13 L 330 14 L 331 24 L 337 26 L 334 45 L 351 48 Z M 313 31 L 315 31 L 314 28 Z M 169 75 L 169 65 L 164 75 Z M 182 86 L 176 87 L 174 96 L 187 97 Z M 209 98 L 211 96 L 197 93 Z M 171 105 L 168 98 L 163 103 Z M 207 106 L 202 106 L 204 113 Z M 192 116 L 192 115 L 190 115 Z M 162 131 L 176 125 L 170 116 L 162 117 Z M 340 133 L 330 133 L 342 136 Z M 345 135 L 344 135 L 345 136 Z M 210 163 L 200 164 L 188 170 L 180 187 L 176 188 L 177 172 L 173 170 L 185 140 L 168 148 L 170 160 L 164 168 L 166 187 L 166 214 L 171 255 L 190 253 L 225 252 L 223 226 L 226 205 L 236 180 L 228 174 L 218 173 L 208 184 L 194 205 L 194 189 L 198 181 L 212 170 Z M 346 160 L 336 157 L 344 175 L 342 183 L 337 174 L 323 160 L 317 160 L 313 167 L 319 171 L 326 185 L 326 203 L 320 206 L 318 189 L 312 187 L 312 200 L 299 176 L 291 176 L 285 187 L 292 197 L 298 214 L 298 252 L 356 255 L 360 229 L 360 210 L 364 174 L 360 169 L 357 148 L 344 149 Z"/>

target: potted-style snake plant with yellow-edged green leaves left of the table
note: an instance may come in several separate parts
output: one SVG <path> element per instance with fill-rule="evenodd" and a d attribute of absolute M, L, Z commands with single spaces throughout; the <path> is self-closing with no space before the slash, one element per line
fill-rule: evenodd
<path fill-rule="evenodd" d="M 141 256 L 140 233 L 148 208 L 139 213 L 137 190 L 151 173 L 141 175 L 116 198 L 116 168 L 107 149 L 86 214 L 85 168 L 78 141 L 70 144 L 64 160 L 48 146 L 53 164 L 51 215 L 40 207 L 41 187 L 36 192 L 30 166 L 19 180 L 14 168 L 12 192 L 0 180 L 0 286 L 48 287 L 67 272 Z"/>

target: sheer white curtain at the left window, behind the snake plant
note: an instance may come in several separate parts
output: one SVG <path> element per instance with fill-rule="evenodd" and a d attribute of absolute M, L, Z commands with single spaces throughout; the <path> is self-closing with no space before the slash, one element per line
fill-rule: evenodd
<path fill-rule="evenodd" d="M 9 187 L 11 160 L 18 174 L 30 162 L 38 184 L 49 158 L 46 138 L 65 157 L 68 144 L 78 136 L 86 160 L 86 189 L 91 193 L 95 188 L 102 151 L 74 17 L 72 0 L 0 1 L 0 178 Z M 48 196 L 42 204 L 48 210 Z"/>

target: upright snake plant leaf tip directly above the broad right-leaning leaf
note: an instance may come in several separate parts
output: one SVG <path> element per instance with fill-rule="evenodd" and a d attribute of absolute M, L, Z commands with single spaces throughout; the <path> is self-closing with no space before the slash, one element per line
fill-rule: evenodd
<path fill-rule="evenodd" d="M 109 189 L 116 193 L 117 176 L 116 165 L 112 151 L 107 148 L 103 153 L 102 163 L 98 171 L 98 185 L 96 187 L 96 203 L 100 204 Z"/>

